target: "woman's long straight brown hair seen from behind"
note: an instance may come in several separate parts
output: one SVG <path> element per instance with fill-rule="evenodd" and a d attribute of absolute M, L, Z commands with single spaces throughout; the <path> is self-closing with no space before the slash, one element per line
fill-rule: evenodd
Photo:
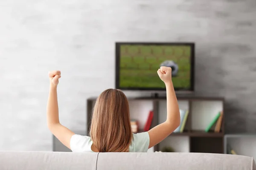
<path fill-rule="evenodd" d="M 90 137 L 99 152 L 128 152 L 132 138 L 129 103 L 125 94 L 107 89 L 93 108 Z"/>

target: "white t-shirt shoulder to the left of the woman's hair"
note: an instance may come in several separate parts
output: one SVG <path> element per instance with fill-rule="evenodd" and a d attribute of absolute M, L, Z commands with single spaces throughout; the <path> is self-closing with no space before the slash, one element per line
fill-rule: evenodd
<path fill-rule="evenodd" d="M 70 139 L 70 149 L 73 152 L 92 152 L 92 140 L 89 136 L 73 135 Z"/>

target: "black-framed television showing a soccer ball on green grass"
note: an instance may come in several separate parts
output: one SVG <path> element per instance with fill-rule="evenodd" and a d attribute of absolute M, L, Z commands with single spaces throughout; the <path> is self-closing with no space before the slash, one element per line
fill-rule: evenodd
<path fill-rule="evenodd" d="M 163 91 L 161 66 L 172 68 L 175 91 L 194 91 L 195 43 L 116 42 L 116 88 Z"/>

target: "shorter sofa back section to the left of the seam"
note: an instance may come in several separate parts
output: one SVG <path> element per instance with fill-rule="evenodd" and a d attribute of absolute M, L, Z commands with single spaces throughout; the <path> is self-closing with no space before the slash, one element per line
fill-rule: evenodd
<path fill-rule="evenodd" d="M 0 151 L 0 170 L 95 170 L 97 153 Z"/>

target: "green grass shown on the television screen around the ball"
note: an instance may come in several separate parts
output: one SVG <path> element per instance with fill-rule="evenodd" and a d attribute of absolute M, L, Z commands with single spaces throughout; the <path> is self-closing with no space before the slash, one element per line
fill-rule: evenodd
<path fill-rule="evenodd" d="M 121 88 L 165 88 L 157 70 L 166 60 L 179 67 L 177 77 L 172 77 L 175 88 L 190 87 L 189 46 L 122 45 L 120 51 L 119 83 Z"/>

